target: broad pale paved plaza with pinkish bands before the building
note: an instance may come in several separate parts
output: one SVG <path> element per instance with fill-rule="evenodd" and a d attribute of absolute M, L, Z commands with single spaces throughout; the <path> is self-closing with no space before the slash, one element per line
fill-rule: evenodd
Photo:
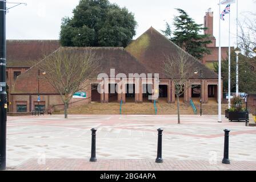
<path fill-rule="evenodd" d="M 256 127 L 246 127 L 245 122 L 229 122 L 224 116 L 223 122 L 218 123 L 216 115 L 183 115 L 181 122 L 177 124 L 176 115 L 69 115 L 69 119 L 63 119 L 63 115 L 8 117 L 7 167 L 86 170 L 87 166 L 88 170 L 125 170 L 141 164 L 138 169 L 142 170 L 175 170 L 182 166 L 183 169 L 203 170 L 231 170 L 239 166 L 256 169 Z M 88 160 L 93 127 L 98 129 L 98 162 L 92 164 Z M 155 164 L 157 129 L 160 127 L 164 130 L 165 162 Z M 230 167 L 221 164 L 224 129 L 231 130 L 229 158 L 233 166 Z M 107 167 L 111 163 L 116 165 Z M 122 164 L 128 166 L 125 168 Z M 174 164 L 178 167 L 173 167 Z M 202 165 L 205 167 L 196 167 Z"/>

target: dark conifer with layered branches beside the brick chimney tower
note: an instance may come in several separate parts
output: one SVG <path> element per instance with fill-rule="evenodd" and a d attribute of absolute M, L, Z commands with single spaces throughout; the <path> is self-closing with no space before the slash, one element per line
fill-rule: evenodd
<path fill-rule="evenodd" d="M 186 11 L 176 10 L 178 10 L 179 16 L 174 17 L 173 33 L 170 31 L 170 24 L 166 23 L 166 30 L 162 31 L 163 34 L 197 59 L 202 59 L 205 53 L 210 54 L 210 49 L 206 47 L 211 43 L 211 40 L 207 39 L 209 35 L 199 34 L 207 28 L 203 28 L 203 24 L 195 23 Z"/>

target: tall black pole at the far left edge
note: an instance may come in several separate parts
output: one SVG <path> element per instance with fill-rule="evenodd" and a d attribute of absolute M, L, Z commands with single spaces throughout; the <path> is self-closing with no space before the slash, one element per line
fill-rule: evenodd
<path fill-rule="evenodd" d="M 0 0 L 0 170 L 6 169 L 6 1 Z"/>

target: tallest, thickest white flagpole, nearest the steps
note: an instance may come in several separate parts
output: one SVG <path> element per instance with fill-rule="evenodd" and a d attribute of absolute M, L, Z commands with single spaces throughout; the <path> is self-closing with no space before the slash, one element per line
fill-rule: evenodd
<path fill-rule="evenodd" d="M 221 0 L 219 0 L 219 78 L 218 78 L 218 122 L 222 122 L 221 118 Z"/>

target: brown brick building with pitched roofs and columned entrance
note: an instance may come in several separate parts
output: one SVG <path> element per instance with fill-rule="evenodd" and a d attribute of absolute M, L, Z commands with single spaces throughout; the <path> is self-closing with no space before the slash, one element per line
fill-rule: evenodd
<path fill-rule="evenodd" d="M 17 55 L 13 58 L 13 67 L 8 67 L 7 71 L 11 71 L 14 74 L 15 65 L 21 63 L 23 57 L 15 54 L 16 48 L 10 49 L 11 46 L 9 42 L 7 49 L 9 51 L 9 60 L 11 56 Z M 16 42 L 19 44 L 19 42 Z M 23 42 L 24 43 L 24 42 Z M 14 44 L 14 42 L 13 42 Z M 31 43 L 32 44 L 32 43 Z M 81 51 L 86 51 L 90 49 L 95 55 L 101 57 L 100 65 L 101 67 L 97 70 L 98 73 L 106 73 L 110 75 L 110 69 L 115 69 L 115 75 L 118 73 L 159 73 L 159 85 L 154 85 L 154 82 L 143 82 L 142 78 L 134 78 L 133 80 L 127 80 L 127 82 L 121 82 L 118 79 L 107 79 L 97 80 L 97 78 L 90 80 L 90 86 L 86 89 L 86 99 L 73 98 L 70 102 L 70 107 L 79 106 L 83 104 L 90 104 L 91 102 L 101 102 L 102 104 L 107 104 L 109 102 L 135 102 L 143 103 L 148 102 L 145 98 L 145 93 L 143 89 L 145 87 L 151 88 L 154 92 L 155 88 L 159 88 L 159 102 L 166 102 L 173 104 L 175 103 L 175 93 L 174 93 L 174 83 L 171 79 L 163 73 L 163 60 L 166 56 L 173 57 L 180 51 L 181 48 L 176 46 L 173 42 L 166 39 L 161 33 L 155 30 L 153 27 L 149 28 L 144 34 L 139 36 L 138 39 L 134 40 L 126 48 L 122 47 L 94 47 L 94 48 L 77 48 L 77 47 L 60 47 L 56 41 L 50 42 L 38 42 L 39 45 L 46 45 L 46 47 L 53 47 L 52 50 L 62 50 L 62 51 L 74 51 L 81 53 Z M 37 51 L 37 56 L 33 59 L 40 60 L 42 54 L 37 50 L 33 51 L 26 48 L 27 44 L 24 43 L 24 55 L 32 56 L 32 53 Z M 22 47 L 19 44 L 17 47 Z M 28 46 L 29 47 L 29 46 Z M 32 46 L 33 47 L 33 46 Z M 42 46 L 43 47 L 43 46 Z M 13 51 L 13 52 L 12 52 Z M 23 51 L 21 52 L 23 53 Z M 217 90 L 218 90 L 218 75 L 207 68 L 201 61 L 196 60 L 193 56 L 189 55 L 189 59 L 193 61 L 191 65 L 191 72 L 194 73 L 194 68 L 202 70 L 202 85 L 199 75 L 193 74 L 191 78 L 187 81 L 187 85 L 190 86 L 182 96 L 182 102 L 189 103 L 190 100 L 198 100 L 199 95 L 202 90 L 202 103 L 206 104 L 209 101 L 217 102 Z M 29 59 L 26 59 L 29 60 Z M 42 60 L 43 61 L 43 60 Z M 26 61 L 24 61 L 26 63 Z M 23 64 L 21 64 L 23 66 Z M 9 82 L 10 86 L 10 98 L 11 105 L 9 108 L 10 112 L 31 112 L 37 109 L 37 107 L 43 107 L 44 109 L 49 109 L 54 107 L 55 110 L 63 109 L 63 103 L 58 92 L 43 79 L 43 76 L 39 76 L 38 84 L 38 69 L 36 67 L 31 67 L 27 65 L 19 70 L 23 72 L 20 76 L 15 78 L 15 82 Z M 13 69 L 13 70 L 12 70 Z M 10 72 L 9 71 L 9 72 Z M 8 73 L 10 74 L 10 73 Z M 102 84 L 102 82 L 104 84 Z M 102 93 L 98 93 L 95 88 L 101 85 Z M 109 88 L 111 85 L 118 85 L 121 92 L 109 94 Z M 39 95 L 41 96 L 41 101 L 37 101 L 38 97 L 38 85 L 39 85 Z M 133 85 L 133 92 L 131 94 L 127 93 L 127 87 Z M 150 85 L 150 86 L 149 86 Z M 197 85 L 197 86 L 195 86 Z M 222 86 L 222 85 L 221 85 Z M 202 89 L 201 89 L 202 88 Z M 135 93 L 134 90 L 139 90 Z M 147 95 L 148 93 L 146 93 Z"/>

